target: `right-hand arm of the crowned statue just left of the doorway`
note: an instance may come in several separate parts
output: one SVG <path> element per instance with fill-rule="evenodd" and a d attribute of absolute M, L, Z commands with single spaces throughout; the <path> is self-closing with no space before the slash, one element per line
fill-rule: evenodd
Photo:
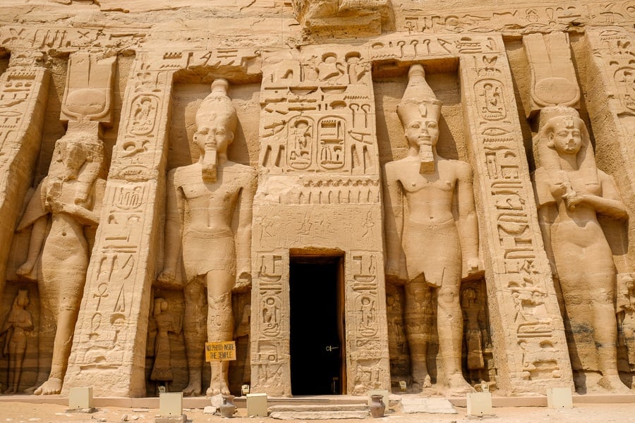
<path fill-rule="evenodd" d="M 236 228 L 236 289 L 248 288 L 251 283 L 251 218 L 256 174 L 252 168 L 246 172 L 246 183 L 238 197 L 238 228 Z"/>

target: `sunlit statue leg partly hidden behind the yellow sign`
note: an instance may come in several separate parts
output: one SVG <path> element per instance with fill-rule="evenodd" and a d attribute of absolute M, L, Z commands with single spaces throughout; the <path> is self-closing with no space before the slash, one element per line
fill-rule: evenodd
<path fill-rule="evenodd" d="M 207 273 L 207 341 L 234 339 L 234 314 L 231 311 L 231 288 L 236 277 L 226 271 Z M 229 361 L 210 362 L 212 379 L 207 396 L 229 393 Z"/>

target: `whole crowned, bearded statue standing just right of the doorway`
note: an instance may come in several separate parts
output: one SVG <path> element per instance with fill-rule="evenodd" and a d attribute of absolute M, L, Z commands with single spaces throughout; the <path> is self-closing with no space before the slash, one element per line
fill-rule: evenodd
<path fill-rule="evenodd" d="M 425 82 L 423 66 L 411 66 L 397 113 L 409 152 L 404 159 L 386 164 L 386 273 L 389 281 L 406 280 L 405 321 L 413 384 L 430 386 L 423 322 L 433 298 L 448 393 L 460 394 L 471 390 L 461 373 L 463 257 L 468 272 L 478 271 L 479 266 L 472 170 L 464 162 L 437 154 L 441 102 Z"/>

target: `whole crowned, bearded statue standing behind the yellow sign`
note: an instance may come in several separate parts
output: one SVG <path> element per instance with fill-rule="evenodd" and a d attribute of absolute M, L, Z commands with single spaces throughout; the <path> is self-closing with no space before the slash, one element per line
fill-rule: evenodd
<path fill-rule="evenodd" d="M 182 243 L 187 278 L 183 326 L 189 367 L 186 395 L 200 395 L 205 326 L 208 341 L 231 341 L 231 292 L 247 288 L 251 282 L 256 171 L 227 159 L 237 123 L 227 87 L 226 80 L 215 80 L 196 113 L 194 142 L 200 149 L 199 161 L 170 171 L 167 183 L 165 264 L 159 282 L 174 283 Z M 207 325 L 201 321 L 205 304 Z M 228 366 L 229 362 L 211 362 L 208 396 L 229 393 Z"/>

